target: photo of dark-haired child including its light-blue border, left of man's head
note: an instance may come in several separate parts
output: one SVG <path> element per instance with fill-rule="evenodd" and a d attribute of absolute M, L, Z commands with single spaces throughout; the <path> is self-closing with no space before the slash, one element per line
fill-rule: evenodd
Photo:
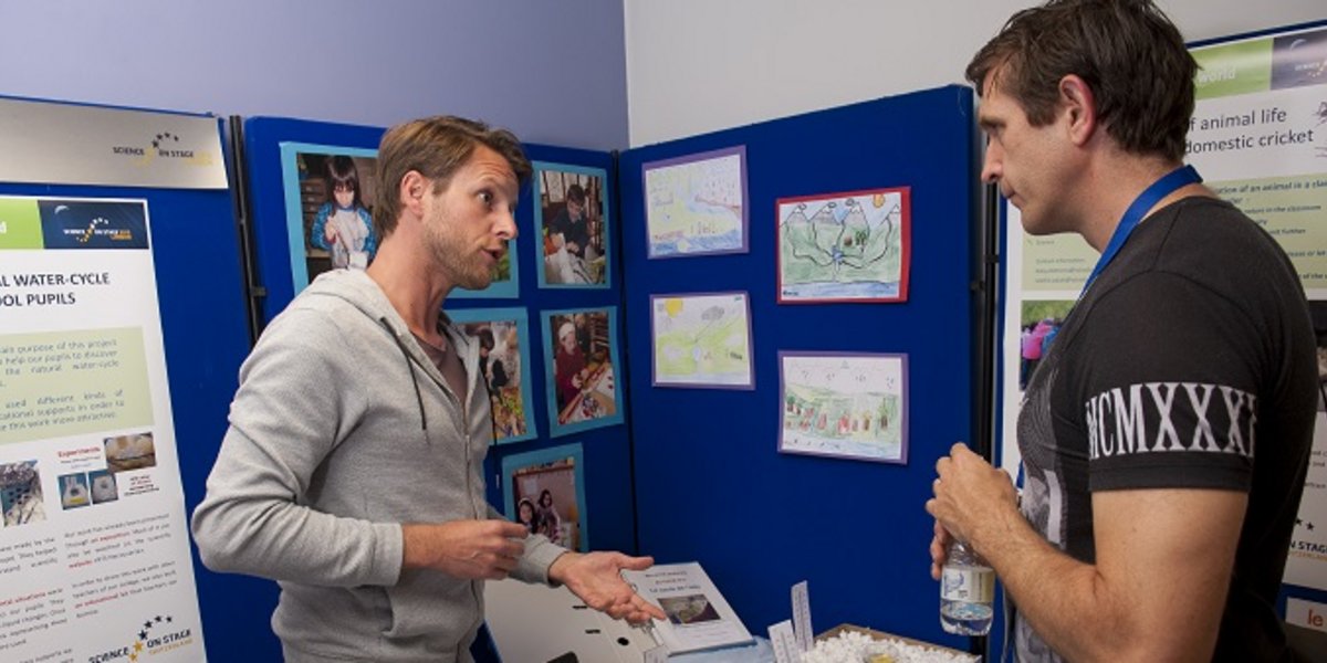
<path fill-rule="evenodd" d="M 285 231 L 296 294 L 322 272 L 364 269 L 373 261 L 378 151 L 280 143 Z"/>

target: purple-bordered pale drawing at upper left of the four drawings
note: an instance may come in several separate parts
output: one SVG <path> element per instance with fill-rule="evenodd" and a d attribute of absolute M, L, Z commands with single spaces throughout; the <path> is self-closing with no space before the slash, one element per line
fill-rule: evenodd
<path fill-rule="evenodd" d="M 646 257 L 746 253 L 746 146 L 641 164 Z"/>

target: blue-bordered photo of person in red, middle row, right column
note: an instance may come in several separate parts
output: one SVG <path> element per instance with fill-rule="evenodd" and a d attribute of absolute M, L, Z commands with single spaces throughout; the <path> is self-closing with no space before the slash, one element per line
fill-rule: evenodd
<path fill-rule="evenodd" d="M 541 316 L 548 434 L 622 423 L 617 308 L 545 310 Z"/>

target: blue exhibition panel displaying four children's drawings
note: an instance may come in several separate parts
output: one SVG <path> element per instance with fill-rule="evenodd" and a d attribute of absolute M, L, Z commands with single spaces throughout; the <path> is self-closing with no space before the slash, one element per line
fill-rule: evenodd
<path fill-rule="evenodd" d="M 650 260 L 644 163 L 746 146 L 750 252 Z M 928 545 L 934 461 L 975 435 L 978 184 L 973 93 L 947 86 L 629 150 L 620 159 L 641 552 L 695 560 L 763 634 L 809 581 L 817 631 L 856 623 L 966 648 L 938 621 Z M 897 304 L 778 304 L 776 207 L 910 187 Z M 755 390 L 650 385 L 650 296 L 744 290 Z M 778 451 L 780 351 L 906 353 L 905 464 Z"/>

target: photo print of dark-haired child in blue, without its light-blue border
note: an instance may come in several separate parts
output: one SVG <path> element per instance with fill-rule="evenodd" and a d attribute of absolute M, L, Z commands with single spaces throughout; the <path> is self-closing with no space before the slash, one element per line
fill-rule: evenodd
<path fill-rule="evenodd" d="M 377 159 L 296 152 L 308 280 L 329 269 L 364 269 L 373 261 Z"/>

